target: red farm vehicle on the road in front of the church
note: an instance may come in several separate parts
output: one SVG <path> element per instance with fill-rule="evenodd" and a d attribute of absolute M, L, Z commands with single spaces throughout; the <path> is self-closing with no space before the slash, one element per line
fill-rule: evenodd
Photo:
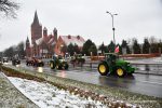
<path fill-rule="evenodd" d="M 42 60 L 41 57 L 28 57 L 26 59 L 26 65 L 27 66 L 43 67 L 44 66 L 44 62 Z"/>

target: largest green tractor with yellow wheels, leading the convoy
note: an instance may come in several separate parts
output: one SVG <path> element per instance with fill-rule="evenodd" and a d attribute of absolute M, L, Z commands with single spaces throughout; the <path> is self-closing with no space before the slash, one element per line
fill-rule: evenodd
<path fill-rule="evenodd" d="M 119 59 L 117 54 L 105 53 L 105 60 L 99 63 L 98 71 L 102 76 L 117 75 L 118 77 L 124 77 L 134 73 L 135 68 L 130 63 Z"/>

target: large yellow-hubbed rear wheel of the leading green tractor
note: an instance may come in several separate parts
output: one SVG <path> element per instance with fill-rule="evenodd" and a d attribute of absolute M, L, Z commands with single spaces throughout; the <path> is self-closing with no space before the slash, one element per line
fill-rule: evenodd
<path fill-rule="evenodd" d="M 98 65 L 98 71 L 102 76 L 106 76 L 109 72 L 108 66 L 106 63 L 100 63 Z"/>

